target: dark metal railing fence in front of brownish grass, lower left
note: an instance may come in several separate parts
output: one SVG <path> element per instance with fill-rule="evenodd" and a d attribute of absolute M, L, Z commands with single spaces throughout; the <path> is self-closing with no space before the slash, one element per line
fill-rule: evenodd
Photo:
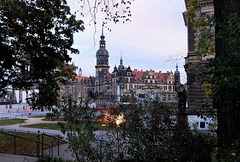
<path fill-rule="evenodd" d="M 21 136 L 19 135 L 22 134 Z M 5 140 L 3 140 L 3 138 Z M 0 130 L 0 152 L 43 157 L 53 157 L 53 149 L 57 147 L 57 156 L 60 154 L 60 145 L 67 143 L 60 135 L 49 135 L 45 133 L 23 133 L 16 130 Z M 4 147 L 5 146 L 5 147 Z"/>

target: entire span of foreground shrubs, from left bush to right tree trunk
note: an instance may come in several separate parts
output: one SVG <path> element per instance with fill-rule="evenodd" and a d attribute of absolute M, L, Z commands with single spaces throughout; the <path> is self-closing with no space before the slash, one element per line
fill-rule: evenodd
<path fill-rule="evenodd" d="M 63 104 L 69 148 L 77 161 L 211 161 L 216 153 L 212 132 L 176 126 L 173 108 L 160 103 L 112 108 L 110 130 L 95 132 L 87 103 Z"/>

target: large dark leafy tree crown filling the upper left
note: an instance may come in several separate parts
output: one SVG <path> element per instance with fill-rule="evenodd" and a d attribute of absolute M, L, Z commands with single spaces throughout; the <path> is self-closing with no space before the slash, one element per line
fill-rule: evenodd
<path fill-rule="evenodd" d="M 83 21 L 70 13 L 66 0 L 2 0 L 0 2 L 0 92 L 7 86 L 30 90 L 40 107 L 57 103 L 58 79 L 70 61 L 73 33 Z"/>

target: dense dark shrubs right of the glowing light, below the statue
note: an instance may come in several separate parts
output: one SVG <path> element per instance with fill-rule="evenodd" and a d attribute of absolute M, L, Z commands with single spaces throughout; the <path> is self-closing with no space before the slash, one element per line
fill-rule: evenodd
<path fill-rule="evenodd" d="M 113 114 L 124 117 L 116 127 L 118 138 L 112 136 L 109 144 L 119 147 L 119 152 L 115 149 L 118 159 L 211 161 L 215 155 L 216 135 L 176 127 L 171 107 L 162 104 L 121 105 Z"/>

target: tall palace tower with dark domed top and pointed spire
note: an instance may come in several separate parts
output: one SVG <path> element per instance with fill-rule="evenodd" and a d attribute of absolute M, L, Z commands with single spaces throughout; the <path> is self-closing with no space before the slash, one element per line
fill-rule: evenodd
<path fill-rule="evenodd" d="M 109 65 L 108 65 L 108 51 L 106 50 L 106 41 L 105 36 L 103 35 L 103 30 L 102 30 L 102 35 L 100 36 L 101 40 L 99 41 L 99 50 L 96 53 L 96 79 L 103 79 L 104 74 L 109 72 Z"/>

